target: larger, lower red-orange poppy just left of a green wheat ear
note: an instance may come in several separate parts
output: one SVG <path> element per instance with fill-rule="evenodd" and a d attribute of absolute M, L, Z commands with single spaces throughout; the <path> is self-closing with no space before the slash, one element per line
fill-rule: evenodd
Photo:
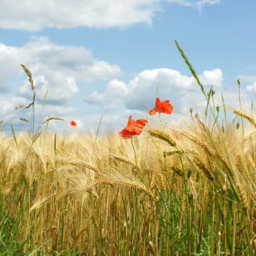
<path fill-rule="evenodd" d="M 119 134 L 122 138 L 128 139 L 131 138 L 133 135 L 139 135 L 142 132 L 142 129 L 147 124 L 147 120 L 145 119 L 138 119 L 134 121 L 131 119 L 132 115 L 128 119 L 128 125 L 125 127 L 124 130 L 120 131 Z"/>

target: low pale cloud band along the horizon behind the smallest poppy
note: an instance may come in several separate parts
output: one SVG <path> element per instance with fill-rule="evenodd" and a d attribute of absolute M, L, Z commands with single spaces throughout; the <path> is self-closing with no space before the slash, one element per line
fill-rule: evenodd
<path fill-rule="evenodd" d="M 28 131 L 31 128 L 31 122 L 23 122 L 20 118 L 25 118 L 31 121 L 31 111 L 30 109 L 15 109 L 19 105 L 29 105 L 31 100 L 24 99 L 23 97 L 12 97 L 12 98 L 0 98 L 0 109 L 1 116 L 0 121 L 3 120 L 3 125 L 1 128 L 4 128 L 4 131 L 8 134 L 11 134 L 10 123 L 14 126 L 15 132 L 19 132 L 21 130 Z M 50 121 L 48 130 L 49 131 L 60 131 L 64 130 L 69 134 L 69 132 L 90 132 L 91 128 L 93 131 L 96 131 L 99 125 L 99 120 L 101 118 L 101 114 L 92 113 L 92 114 L 83 114 L 78 113 L 77 109 L 72 106 L 60 106 L 60 105 L 51 105 L 47 102 L 44 105 L 43 112 L 42 104 L 40 102 L 35 102 L 35 122 L 34 122 L 34 132 L 37 131 L 37 128 L 50 116 L 56 116 L 58 118 L 63 118 L 65 121 Z M 41 117 L 41 118 L 40 118 Z M 70 126 L 70 121 L 75 121 L 76 126 Z M 127 122 L 126 113 L 122 113 L 122 115 L 103 115 L 102 117 L 102 130 L 115 129 L 120 127 Z M 42 130 L 46 129 L 47 125 L 44 124 L 41 126 Z"/>

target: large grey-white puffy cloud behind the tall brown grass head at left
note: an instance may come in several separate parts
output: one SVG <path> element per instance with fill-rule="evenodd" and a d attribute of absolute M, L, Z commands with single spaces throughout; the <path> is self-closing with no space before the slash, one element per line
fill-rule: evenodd
<path fill-rule="evenodd" d="M 120 67 L 104 60 L 96 60 L 85 47 L 71 47 L 53 44 L 48 37 L 31 37 L 24 47 L 8 47 L 0 44 L 0 92 L 8 92 L 6 86 L 13 74 L 23 75 L 19 64 L 24 63 L 33 75 L 37 100 L 47 99 L 55 104 L 68 104 L 79 87 L 76 80 L 93 82 L 118 76 Z M 31 97 L 31 86 L 24 79 L 18 96 Z"/>

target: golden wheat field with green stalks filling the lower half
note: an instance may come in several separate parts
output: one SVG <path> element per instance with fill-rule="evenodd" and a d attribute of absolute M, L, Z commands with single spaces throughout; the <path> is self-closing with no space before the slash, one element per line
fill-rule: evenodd
<path fill-rule="evenodd" d="M 33 117 L 21 119 L 29 134 L 2 130 L 1 255 L 256 255 L 256 116 L 240 97 L 238 108 L 216 105 L 176 44 L 204 115 L 190 109 L 180 125 L 156 116 L 131 139 L 34 132 Z M 33 113 L 36 85 L 21 66 L 34 99 L 19 108 Z M 53 120 L 63 122 L 42 125 Z"/>

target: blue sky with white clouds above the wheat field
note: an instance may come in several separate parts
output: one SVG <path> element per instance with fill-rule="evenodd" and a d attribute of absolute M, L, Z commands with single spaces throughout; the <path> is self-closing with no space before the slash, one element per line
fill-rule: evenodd
<path fill-rule="evenodd" d="M 173 105 L 166 122 L 203 112 L 174 40 L 216 100 L 222 92 L 237 103 L 237 79 L 243 101 L 255 100 L 255 9 L 254 0 L 0 0 L 0 121 L 6 132 L 31 128 L 19 119 L 31 120 L 31 109 L 15 109 L 33 99 L 21 64 L 34 80 L 36 129 L 51 116 L 65 122 L 48 129 L 84 133 L 101 116 L 104 131 L 122 130 L 130 115 L 156 120 L 147 112 L 159 81 L 160 100 Z"/>

